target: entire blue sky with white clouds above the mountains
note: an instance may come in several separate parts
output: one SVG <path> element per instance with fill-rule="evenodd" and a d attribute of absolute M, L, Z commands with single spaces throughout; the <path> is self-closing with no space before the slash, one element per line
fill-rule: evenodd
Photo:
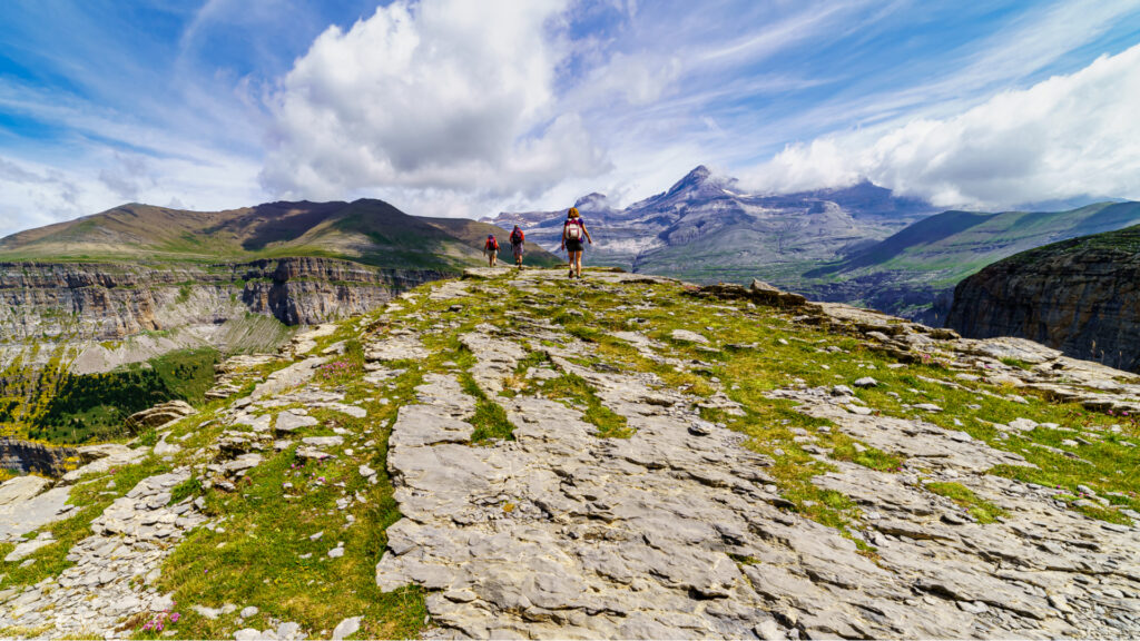
<path fill-rule="evenodd" d="M 628 204 L 706 164 L 1140 200 L 1140 0 L 7 0 L 0 234 L 125 202 Z"/>

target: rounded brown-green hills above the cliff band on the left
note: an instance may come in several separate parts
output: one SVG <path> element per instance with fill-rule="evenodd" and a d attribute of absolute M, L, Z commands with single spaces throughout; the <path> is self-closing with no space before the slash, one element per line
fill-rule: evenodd
<path fill-rule="evenodd" d="M 482 261 L 482 238 L 507 232 L 409 216 L 377 200 L 275 202 L 199 212 L 125 204 L 0 240 L 0 260 L 244 261 L 325 257 L 383 268 L 455 271 Z M 534 248 L 531 262 L 557 259 Z"/>

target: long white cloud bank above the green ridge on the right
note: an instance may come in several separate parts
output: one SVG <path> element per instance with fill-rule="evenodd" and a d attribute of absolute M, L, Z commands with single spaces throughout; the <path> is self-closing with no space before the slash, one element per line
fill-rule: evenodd
<path fill-rule="evenodd" d="M 758 189 L 865 177 L 937 205 L 1002 208 L 1076 196 L 1140 200 L 1140 46 L 1010 90 L 953 117 L 897 121 L 784 148 L 746 175 Z"/>

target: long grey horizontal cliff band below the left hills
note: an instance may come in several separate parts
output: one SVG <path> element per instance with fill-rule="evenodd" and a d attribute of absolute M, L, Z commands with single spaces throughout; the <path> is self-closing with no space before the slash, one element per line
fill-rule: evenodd
<path fill-rule="evenodd" d="M 287 325 L 366 311 L 446 274 L 373 269 L 344 260 L 242 263 L 0 263 L 0 338 L 122 339 L 220 324 L 247 311 Z"/>

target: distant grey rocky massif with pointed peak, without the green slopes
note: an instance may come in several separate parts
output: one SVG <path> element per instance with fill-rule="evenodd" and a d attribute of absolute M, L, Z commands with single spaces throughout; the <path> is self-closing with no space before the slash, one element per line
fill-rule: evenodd
<path fill-rule="evenodd" d="M 740 281 L 765 274 L 799 274 L 886 238 L 935 212 L 914 198 L 895 197 L 870 182 L 842 189 L 750 195 L 736 181 L 701 165 L 667 192 L 614 209 L 602 194 L 575 206 L 597 240 L 591 261 L 633 271 L 699 281 Z M 520 225 L 529 237 L 556 249 L 565 211 L 500 213 L 484 218 Z"/>

